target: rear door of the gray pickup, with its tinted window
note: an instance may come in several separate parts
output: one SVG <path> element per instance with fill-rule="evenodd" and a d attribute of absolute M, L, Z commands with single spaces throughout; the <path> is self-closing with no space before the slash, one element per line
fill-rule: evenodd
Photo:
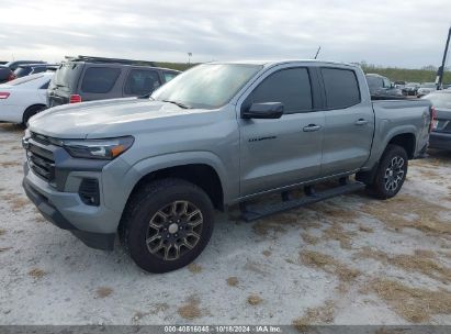
<path fill-rule="evenodd" d="M 374 113 L 363 101 L 352 68 L 322 67 L 326 101 L 322 176 L 351 171 L 367 162 L 373 140 Z"/>

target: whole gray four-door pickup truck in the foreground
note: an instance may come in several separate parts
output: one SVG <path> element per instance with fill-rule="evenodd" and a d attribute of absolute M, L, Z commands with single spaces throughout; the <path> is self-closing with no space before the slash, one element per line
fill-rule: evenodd
<path fill-rule="evenodd" d="M 204 249 L 215 209 L 239 203 L 252 221 L 364 187 L 395 196 L 431 119 L 427 100 L 372 102 L 357 66 L 211 63 L 150 97 L 33 116 L 23 187 L 88 246 L 112 249 L 119 234 L 140 268 L 165 272 Z M 336 187 L 315 192 L 324 181 Z M 280 203 L 249 204 L 270 192 Z"/>

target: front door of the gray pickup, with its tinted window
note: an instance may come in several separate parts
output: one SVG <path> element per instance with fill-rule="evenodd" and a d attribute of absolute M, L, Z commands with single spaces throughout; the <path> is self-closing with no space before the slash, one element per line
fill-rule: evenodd
<path fill-rule="evenodd" d="M 319 177 L 325 116 L 312 75 L 307 67 L 278 67 L 238 103 L 240 110 L 252 102 L 284 104 L 280 119 L 238 120 L 241 197 Z"/>

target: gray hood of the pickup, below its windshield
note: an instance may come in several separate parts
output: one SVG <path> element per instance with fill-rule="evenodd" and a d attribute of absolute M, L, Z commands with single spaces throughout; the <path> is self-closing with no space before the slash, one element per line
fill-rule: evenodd
<path fill-rule="evenodd" d="M 102 100 L 47 109 L 30 120 L 29 129 L 57 138 L 104 138 L 183 126 L 188 115 L 202 112 L 149 99 Z"/>

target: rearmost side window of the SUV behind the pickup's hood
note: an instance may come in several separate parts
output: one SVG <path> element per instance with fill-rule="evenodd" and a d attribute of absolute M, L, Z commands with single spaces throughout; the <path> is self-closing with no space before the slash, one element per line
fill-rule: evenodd
<path fill-rule="evenodd" d="M 121 69 L 110 67 L 90 67 L 81 81 L 83 92 L 106 93 L 113 89 Z"/>

